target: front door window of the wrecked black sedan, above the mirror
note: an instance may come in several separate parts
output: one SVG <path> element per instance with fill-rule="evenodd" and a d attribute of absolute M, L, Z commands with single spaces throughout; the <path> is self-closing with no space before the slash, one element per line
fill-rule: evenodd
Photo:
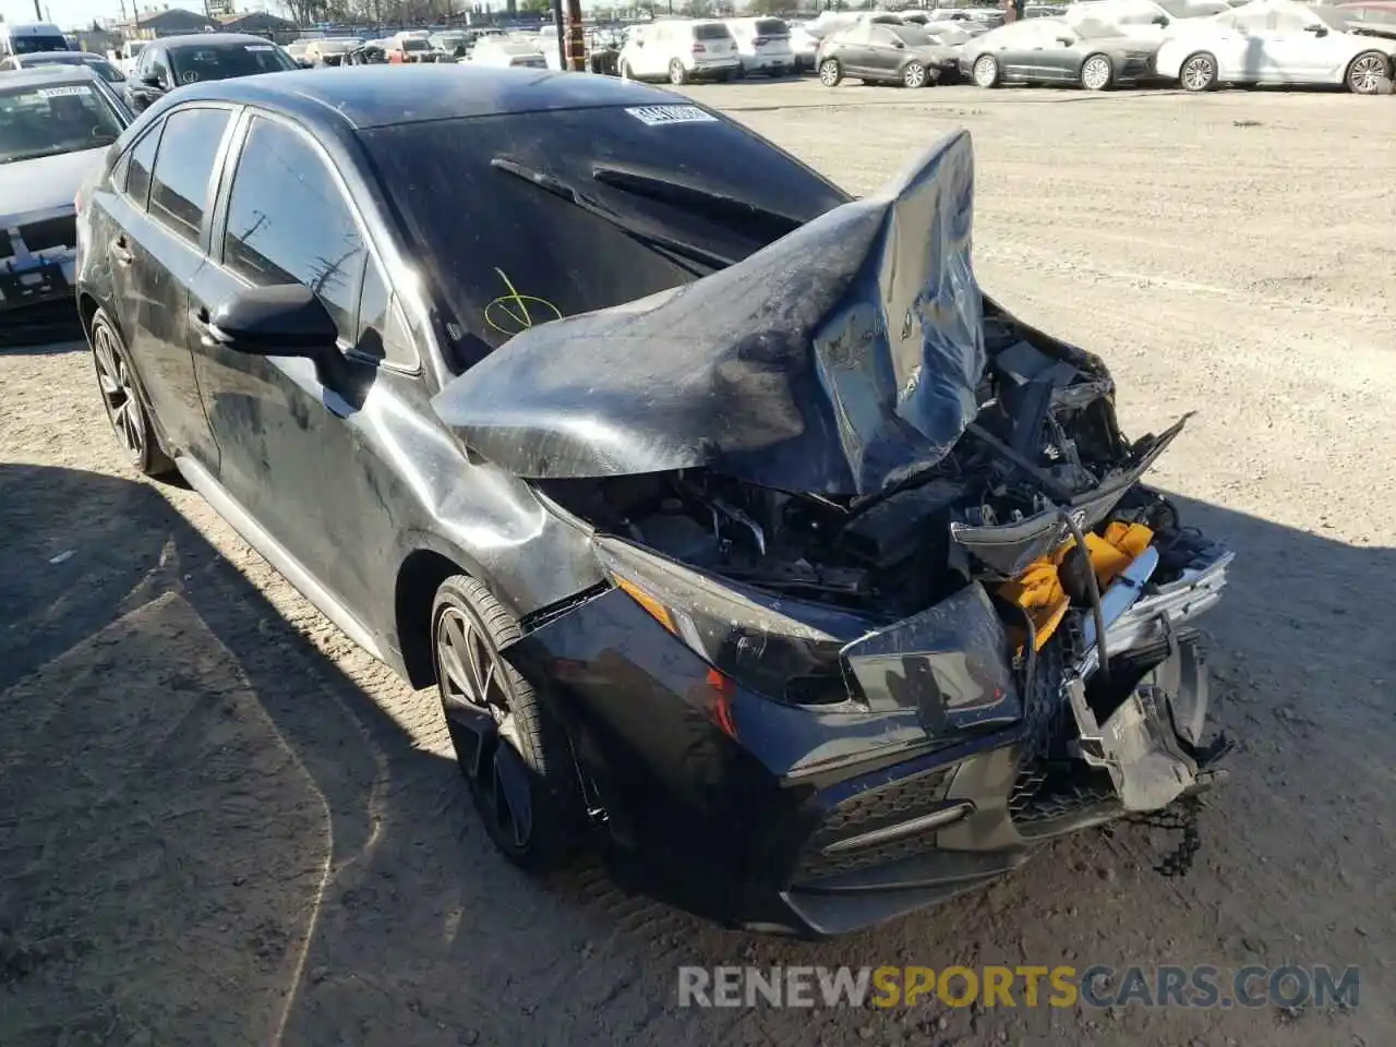
<path fill-rule="evenodd" d="M 369 244 L 320 151 L 296 131 L 255 117 L 233 174 L 223 264 L 255 286 L 306 285 L 353 342 L 367 257 Z"/>

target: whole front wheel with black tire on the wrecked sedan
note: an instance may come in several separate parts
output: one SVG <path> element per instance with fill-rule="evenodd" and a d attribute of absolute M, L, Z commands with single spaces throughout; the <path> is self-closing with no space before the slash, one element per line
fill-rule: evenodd
<path fill-rule="evenodd" d="M 479 644 L 480 655 L 491 659 L 491 671 L 463 666 L 462 659 L 468 656 L 455 639 L 456 625 L 469 627 L 465 649 L 476 649 L 472 645 Z M 521 635 L 518 621 L 479 579 L 461 574 L 441 582 L 431 606 L 431 658 L 456 761 L 494 846 L 519 868 L 547 872 L 567 864 L 575 850 L 582 800 L 567 730 L 528 680 L 500 658 L 500 648 Z M 445 646 L 458 651 L 456 669 L 450 667 Z M 470 659 L 470 664 L 482 663 Z M 462 669 L 466 676 L 475 676 L 456 680 Z M 484 677 L 483 702 L 465 698 L 466 688 L 459 684 L 477 684 L 480 676 Z M 480 734 L 463 726 L 469 719 L 480 722 L 482 712 L 498 726 L 493 751 L 482 752 Z M 511 752 L 503 752 L 504 748 Z M 510 769 L 524 772 L 526 785 L 511 780 L 526 790 L 522 794 L 526 817 L 503 817 L 500 779 L 486 780 L 496 766 L 505 778 Z M 479 773 L 472 773 L 472 768 L 479 768 Z M 519 822 L 526 825 L 521 828 Z"/>

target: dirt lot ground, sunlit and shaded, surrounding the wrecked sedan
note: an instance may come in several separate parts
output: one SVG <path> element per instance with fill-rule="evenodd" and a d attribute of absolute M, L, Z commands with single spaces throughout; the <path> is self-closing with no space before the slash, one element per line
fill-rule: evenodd
<path fill-rule="evenodd" d="M 462 803 L 433 702 L 121 468 L 81 346 L 0 350 L 0 1043 L 1389 1043 L 1396 102 L 692 94 L 856 193 L 967 126 L 990 293 L 1104 356 L 1132 434 L 1199 412 L 1154 480 L 1240 553 L 1206 624 L 1242 744 L 1194 872 L 1090 833 L 821 945 L 595 868 L 536 884 Z M 1358 965 L 1361 1005 L 677 1007 L 680 963 L 1001 962 Z"/>

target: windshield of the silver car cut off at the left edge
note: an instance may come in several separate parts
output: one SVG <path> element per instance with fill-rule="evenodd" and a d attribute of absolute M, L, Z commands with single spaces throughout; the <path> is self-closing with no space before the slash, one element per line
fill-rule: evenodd
<path fill-rule="evenodd" d="M 121 120 L 91 84 L 0 88 L 0 163 L 110 145 Z"/>

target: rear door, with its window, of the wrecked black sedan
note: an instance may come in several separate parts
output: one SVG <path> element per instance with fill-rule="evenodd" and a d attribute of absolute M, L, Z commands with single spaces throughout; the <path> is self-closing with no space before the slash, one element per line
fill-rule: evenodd
<path fill-rule="evenodd" d="M 109 242 L 123 335 L 174 454 L 216 466 L 188 349 L 188 286 L 204 265 L 226 106 L 176 109 L 131 149 Z"/>

